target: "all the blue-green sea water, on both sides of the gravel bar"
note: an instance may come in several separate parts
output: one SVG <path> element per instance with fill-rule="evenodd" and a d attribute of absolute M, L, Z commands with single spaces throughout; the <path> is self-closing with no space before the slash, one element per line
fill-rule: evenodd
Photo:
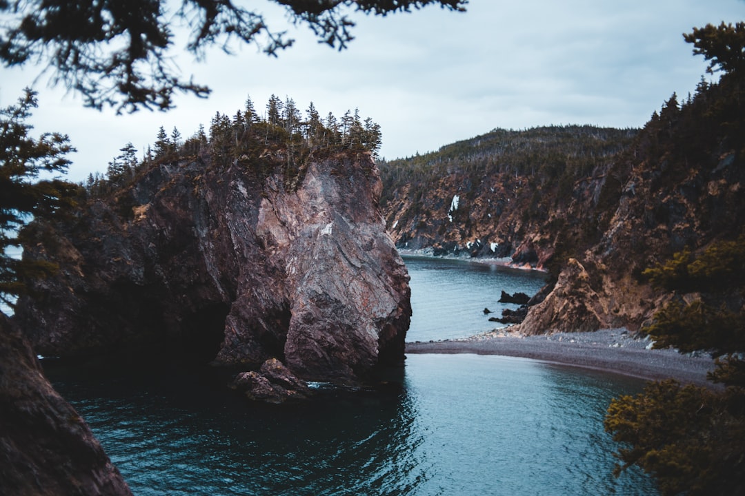
<path fill-rule="evenodd" d="M 438 319 L 427 297 L 475 304 L 474 280 L 503 275 L 450 261 L 407 264 L 419 301 L 412 332 L 429 327 L 419 315 L 449 318 L 443 309 Z M 434 270 L 440 287 L 423 282 Z M 524 279 L 495 287 L 536 283 Z M 484 300 L 479 311 L 496 307 Z M 644 474 L 611 474 L 616 446 L 603 432 L 604 412 L 612 397 L 643 385 L 621 376 L 520 358 L 409 355 L 378 390 L 326 390 L 275 407 L 234 396 L 219 371 L 201 367 L 46 367 L 136 495 L 657 494 Z"/>

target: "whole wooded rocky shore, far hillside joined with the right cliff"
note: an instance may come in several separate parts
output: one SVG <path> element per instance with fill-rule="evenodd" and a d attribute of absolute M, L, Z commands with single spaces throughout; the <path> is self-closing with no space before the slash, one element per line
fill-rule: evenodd
<path fill-rule="evenodd" d="M 743 91 L 728 76 L 673 94 L 638 132 L 493 131 L 384 164 L 393 239 L 548 268 L 528 334 L 640 329 L 671 297 L 644 269 L 744 231 Z"/>

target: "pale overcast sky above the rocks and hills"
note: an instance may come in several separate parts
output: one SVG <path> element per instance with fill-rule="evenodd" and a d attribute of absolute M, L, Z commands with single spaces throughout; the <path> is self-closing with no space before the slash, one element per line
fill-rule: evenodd
<path fill-rule="evenodd" d="M 39 91 L 35 131 L 70 136 L 78 149 L 74 181 L 104 173 L 128 141 L 142 152 L 159 126 L 169 133 L 177 126 L 184 137 L 200 123 L 209 129 L 216 111 L 235 114 L 247 95 L 259 111 L 270 94 L 300 109 L 312 101 L 321 115 L 358 107 L 381 125 L 381 155 L 400 158 L 494 128 L 642 126 L 673 91 L 684 99 L 705 73 L 682 33 L 745 20 L 743 0 L 470 0 L 467 8 L 355 16 L 355 40 L 343 52 L 292 30 L 296 44 L 276 59 L 253 46 L 235 56 L 215 49 L 203 63 L 184 55 L 180 67 L 212 95 L 179 95 L 168 113 L 84 109 L 80 97 L 47 88 L 45 78 L 34 83 L 34 66 L 0 68 L 0 106 L 24 86 Z"/>

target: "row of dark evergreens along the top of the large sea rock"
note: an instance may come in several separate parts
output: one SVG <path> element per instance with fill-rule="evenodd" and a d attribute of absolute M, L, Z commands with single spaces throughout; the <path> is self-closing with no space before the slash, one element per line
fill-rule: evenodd
<path fill-rule="evenodd" d="M 152 164 L 204 155 L 213 161 L 251 161 L 268 149 L 282 155 L 288 168 L 297 170 L 308 158 L 341 150 L 377 156 L 381 137 L 378 123 L 370 117 L 363 119 L 357 108 L 341 117 L 332 112 L 324 117 L 313 102 L 303 113 L 292 98 L 281 100 L 272 94 L 264 112 L 259 113 L 249 96 L 243 109 L 232 117 L 215 112 L 209 130 L 200 125 L 186 139 L 176 127 L 169 134 L 160 126 L 156 140 L 142 150 L 142 155 L 131 142 L 125 144 L 109 161 L 105 175 L 91 173 L 83 186 L 89 193 L 108 193 Z"/>

